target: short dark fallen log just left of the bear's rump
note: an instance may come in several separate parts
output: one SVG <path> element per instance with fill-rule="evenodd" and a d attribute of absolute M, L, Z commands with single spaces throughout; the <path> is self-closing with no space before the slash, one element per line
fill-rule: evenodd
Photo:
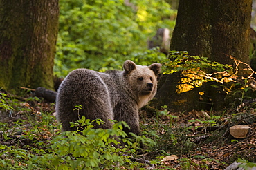
<path fill-rule="evenodd" d="M 52 91 L 51 89 L 46 89 L 44 87 L 38 87 L 37 89 L 35 89 L 34 95 L 37 97 L 42 97 L 49 102 L 55 102 L 57 92 Z"/>

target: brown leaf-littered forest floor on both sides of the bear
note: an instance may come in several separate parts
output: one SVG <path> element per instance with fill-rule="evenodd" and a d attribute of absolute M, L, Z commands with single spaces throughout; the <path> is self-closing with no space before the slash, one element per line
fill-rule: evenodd
<path fill-rule="evenodd" d="M 60 125 L 53 116 L 54 103 L 39 100 L 31 94 L 24 97 L 8 94 L 0 99 L 0 145 L 46 149 L 48 145 L 44 142 L 60 133 Z M 8 110 L 3 104 L 13 108 Z M 156 169 L 225 169 L 239 159 L 256 162 L 255 109 L 181 114 L 163 108 L 156 112 L 140 111 L 142 134 L 152 138 L 156 146 L 138 155 L 149 161 L 158 160 Z M 237 139 L 229 134 L 229 127 L 237 124 L 250 126 L 246 138 Z M 37 145 L 39 141 L 43 144 Z M 0 158 L 4 159 L 1 151 Z M 15 158 L 12 162 L 15 164 Z"/>

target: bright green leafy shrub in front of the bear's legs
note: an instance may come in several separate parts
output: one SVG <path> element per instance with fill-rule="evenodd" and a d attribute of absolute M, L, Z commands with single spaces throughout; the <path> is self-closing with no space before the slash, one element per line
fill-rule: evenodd
<path fill-rule="evenodd" d="M 100 120 L 94 120 L 99 121 Z M 73 125 L 84 126 L 82 131 L 66 131 L 51 140 L 51 149 L 42 156 L 32 158 L 33 164 L 39 168 L 47 169 L 120 169 L 120 166 L 138 166 L 132 163 L 125 155 L 133 156 L 139 149 L 139 143 L 154 145 L 152 140 L 145 136 L 136 136 L 136 142 L 122 131 L 122 126 L 127 126 L 124 122 L 113 125 L 112 129 L 93 129 L 91 121 L 83 116 Z M 120 140 L 117 136 L 121 136 Z M 120 145 L 126 143 L 126 145 Z M 120 145 L 120 147 L 117 147 Z"/>

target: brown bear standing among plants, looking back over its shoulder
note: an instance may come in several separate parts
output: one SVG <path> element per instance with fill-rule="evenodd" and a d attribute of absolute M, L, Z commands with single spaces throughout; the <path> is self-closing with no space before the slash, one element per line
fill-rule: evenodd
<path fill-rule="evenodd" d="M 66 76 L 56 99 L 57 120 L 62 124 L 62 131 L 75 131 L 70 122 L 85 116 L 104 121 L 95 128 L 111 128 L 110 120 L 125 121 L 131 128 L 124 129 L 125 132 L 140 134 L 138 109 L 156 94 L 161 64 L 142 66 L 127 60 L 123 68 L 123 71 L 104 73 L 77 69 Z M 74 110 L 78 105 L 82 108 Z"/>

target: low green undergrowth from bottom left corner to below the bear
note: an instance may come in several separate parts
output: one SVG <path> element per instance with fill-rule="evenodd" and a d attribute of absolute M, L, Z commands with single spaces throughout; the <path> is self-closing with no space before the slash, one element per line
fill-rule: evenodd
<path fill-rule="evenodd" d="M 41 125 L 44 126 L 43 122 Z M 17 127 L 21 128 L 19 124 Z M 122 122 L 114 124 L 113 129 L 93 129 L 91 121 L 85 118 L 79 124 L 86 124 L 86 128 L 47 136 L 45 131 L 55 129 L 54 125 L 44 126 L 44 129 L 32 126 L 30 131 L 15 135 L 17 133 L 12 133 L 12 127 L 1 123 L 1 131 L 6 131 L 5 142 L 0 145 L 1 169 L 132 169 L 145 166 L 130 159 L 136 156 L 140 143 L 155 145 L 153 140 L 145 136 L 134 135 L 135 141 L 125 138 L 122 126 L 127 125 Z M 12 145 L 14 136 L 18 140 L 16 145 Z"/>

